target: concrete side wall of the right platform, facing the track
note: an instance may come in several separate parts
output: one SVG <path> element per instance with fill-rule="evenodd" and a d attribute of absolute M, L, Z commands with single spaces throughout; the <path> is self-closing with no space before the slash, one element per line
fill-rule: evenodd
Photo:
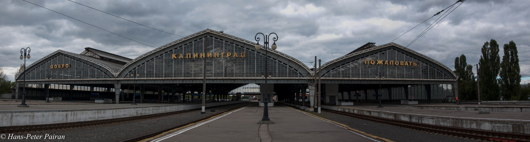
<path fill-rule="evenodd" d="M 499 119 L 457 118 L 426 115 L 409 115 L 406 113 L 395 113 L 386 111 L 364 110 L 355 108 L 322 106 L 323 109 L 331 109 L 343 112 L 357 113 L 367 116 L 382 117 L 388 119 L 417 122 L 438 126 L 459 127 L 469 129 L 491 130 L 501 132 L 514 132 L 519 134 L 530 134 L 530 121 L 509 121 Z"/>

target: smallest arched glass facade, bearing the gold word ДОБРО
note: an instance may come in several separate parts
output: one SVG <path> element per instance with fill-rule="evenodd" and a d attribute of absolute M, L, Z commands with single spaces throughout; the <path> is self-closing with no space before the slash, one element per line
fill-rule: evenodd
<path fill-rule="evenodd" d="M 109 78 L 109 75 L 100 69 L 96 69 L 92 65 L 85 64 L 63 54 L 54 56 L 52 59 L 40 64 L 37 68 L 31 71 L 27 70 L 26 72 L 29 72 L 26 75 L 26 80 L 46 80 L 47 75 L 51 75 L 51 79 L 54 80 Z"/>

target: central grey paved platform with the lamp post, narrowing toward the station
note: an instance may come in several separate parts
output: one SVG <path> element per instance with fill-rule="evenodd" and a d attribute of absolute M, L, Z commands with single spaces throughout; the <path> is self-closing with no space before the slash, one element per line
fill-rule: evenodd
<path fill-rule="evenodd" d="M 280 104 L 269 107 L 274 124 L 262 117 L 255 103 L 143 141 L 383 141 Z"/>

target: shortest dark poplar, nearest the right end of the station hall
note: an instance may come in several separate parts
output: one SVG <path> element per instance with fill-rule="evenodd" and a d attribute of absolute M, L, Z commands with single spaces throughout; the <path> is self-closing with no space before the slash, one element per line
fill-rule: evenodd
<path fill-rule="evenodd" d="M 455 73 L 458 74 L 458 96 L 461 100 L 477 100 L 476 76 L 473 65 L 467 64 L 464 54 L 455 58 Z"/>

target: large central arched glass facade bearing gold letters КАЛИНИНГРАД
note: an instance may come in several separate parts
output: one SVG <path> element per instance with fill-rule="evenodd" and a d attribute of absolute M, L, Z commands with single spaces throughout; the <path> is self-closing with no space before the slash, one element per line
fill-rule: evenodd
<path fill-rule="evenodd" d="M 204 40 L 207 39 L 207 40 Z M 206 54 L 204 52 L 206 48 Z M 181 56 L 182 54 L 182 56 Z M 268 70 L 271 77 L 303 77 L 287 63 L 271 58 L 269 51 Z M 208 58 L 208 56 L 210 56 Z M 140 78 L 197 78 L 202 77 L 206 56 L 207 77 L 261 77 L 265 69 L 264 50 L 255 51 L 226 40 L 209 36 L 189 42 L 148 60 L 128 74 L 137 70 Z M 127 75 L 129 77 L 129 75 Z"/>

